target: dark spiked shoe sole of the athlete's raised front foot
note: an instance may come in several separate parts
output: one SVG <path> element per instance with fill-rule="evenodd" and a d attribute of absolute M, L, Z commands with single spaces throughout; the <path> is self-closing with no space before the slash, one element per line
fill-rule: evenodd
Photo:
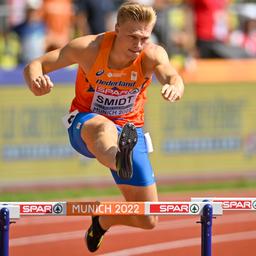
<path fill-rule="evenodd" d="M 120 170 L 118 170 L 118 175 L 122 179 L 131 179 L 133 175 L 131 154 L 137 141 L 138 135 L 134 124 L 125 124 L 118 141 L 120 162 L 122 163 Z"/>

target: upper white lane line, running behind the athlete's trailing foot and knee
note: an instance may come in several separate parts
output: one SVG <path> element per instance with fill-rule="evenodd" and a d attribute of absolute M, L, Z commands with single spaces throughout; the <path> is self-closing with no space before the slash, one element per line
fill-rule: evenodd
<path fill-rule="evenodd" d="M 224 216 L 220 217 L 214 221 L 217 223 L 215 224 L 228 224 L 228 223 L 245 223 L 256 221 L 256 215 L 252 214 L 236 214 L 230 215 L 226 218 Z M 114 227 L 111 232 L 109 232 L 108 236 L 111 235 L 120 235 L 120 234 L 133 234 L 139 232 L 157 232 L 162 230 L 173 230 L 173 229 L 180 229 L 180 228 L 191 228 L 196 227 L 196 218 L 189 218 L 189 219 L 179 219 L 179 220 L 168 220 L 168 221 L 160 221 L 157 225 L 157 228 L 151 231 L 145 231 L 139 228 L 132 228 L 132 227 L 122 227 L 122 229 L 118 227 Z M 82 239 L 85 233 L 84 230 L 76 230 L 76 231 L 69 231 L 69 232 L 60 232 L 60 233 L 51 233 L 51 234 L 44 234 L 44 235 L 36 235 L 36 236 L 27 236 L 27 237 L 20 237 L 20 238 L 12 238 L 10 239 L 10 246 L 17 247 L 17 246 L 26 246 L 31 244 L 42 244 L 42 243 L 50 243 L 50 242 L 57 242 L 63 240 L 74 240 L 74 239 Z"/>

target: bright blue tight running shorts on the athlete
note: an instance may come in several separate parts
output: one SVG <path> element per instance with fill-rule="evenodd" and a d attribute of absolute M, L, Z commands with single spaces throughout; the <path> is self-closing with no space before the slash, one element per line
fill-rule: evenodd
<path fill-rule="evenodd" d="M 81 128 L 84 122 L 90 120 L 98 114 L 95 113 L 78 113 L 71 126 L 68 128 L 69 140 L 72 147 L 80 154 L 95 158 L 88 150 L 86 144 L 81 138 Z M 118 134 L 122 127 L 116 125 Z M 145 141 L 145 136 L 142 128 L 136 128 L 138 133 L 138 142 L 133 149 L 133 177 L 130 180 L 122 180 L 116 171 L 111 170 L 112 176 L 116 184 L 126 184 L 132 186 L 149 186 L 155 183 L 154 172 L 148 157 L 148 150 Z"/>

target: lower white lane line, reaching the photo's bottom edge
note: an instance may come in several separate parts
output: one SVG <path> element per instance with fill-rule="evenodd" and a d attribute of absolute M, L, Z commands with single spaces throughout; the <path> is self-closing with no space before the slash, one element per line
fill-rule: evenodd
<path fill-rule="evenodd" d="M 217 244 L 217 243 L 224 243 L 224 242 L 235 242 L 235 241 L 251 240 L 255 238 L 256 238 L 256 231 L 230 233 L 230 234 L 213 236 L 213 243 Z M 173 242 L 165 242 L 165 243 L 133 247 L 130 249 L 101 254 L 99 256 L 140 255 L 145 253 L 160 252 L 165 250 L 198 246 L 200 244 L 201 244 L 201 238 L 190 238 L 190 239 L 177 240 Z"/>

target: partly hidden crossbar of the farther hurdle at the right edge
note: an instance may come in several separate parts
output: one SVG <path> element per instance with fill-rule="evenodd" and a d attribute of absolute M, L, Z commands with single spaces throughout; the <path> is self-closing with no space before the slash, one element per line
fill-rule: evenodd
<path fill-rule="evenodd" d="M 218 202 L 224 211 L 256 211 L 256 197 L 193 197 L 191 202 Z"/>

